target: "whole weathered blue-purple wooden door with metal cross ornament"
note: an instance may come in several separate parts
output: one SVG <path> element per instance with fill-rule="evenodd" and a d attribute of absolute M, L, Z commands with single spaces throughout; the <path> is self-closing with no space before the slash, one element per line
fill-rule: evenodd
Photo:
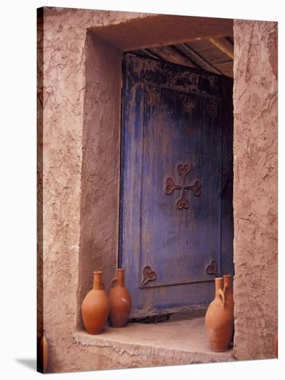
<path fill-rule="evenodd" d="M 126 54 L 119 265 L 131 316 L 208 304 L 233 273 L 233 81 Z"/>

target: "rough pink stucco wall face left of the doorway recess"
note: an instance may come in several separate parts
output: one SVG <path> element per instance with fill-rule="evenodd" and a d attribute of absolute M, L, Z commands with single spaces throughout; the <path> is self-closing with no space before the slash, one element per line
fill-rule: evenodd
<path fill-rule="evenodd" d="M 99 368 L 98 350 L 79 350 L 72 339 L 79 314 L 87 29 L 148 15 L 62 8 L 44 8 L 43 14 L 43 331 L 50 346 L 48 372 L 66 372 Z M 98 147 L 92 146 L 95 160 L 104 155 Z"/>

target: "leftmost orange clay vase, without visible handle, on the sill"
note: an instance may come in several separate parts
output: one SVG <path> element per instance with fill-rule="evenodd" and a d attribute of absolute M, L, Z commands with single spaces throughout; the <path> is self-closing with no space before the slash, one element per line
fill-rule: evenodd
<path fill-rule="evenodd" d="M 86 294 L 81 306 L 85 330 L 89 334 L 100 334 L 106 325 L 110 312 L 108 296 L 102 283 L 102 272 L 94 272 L 93 287 Z"/>

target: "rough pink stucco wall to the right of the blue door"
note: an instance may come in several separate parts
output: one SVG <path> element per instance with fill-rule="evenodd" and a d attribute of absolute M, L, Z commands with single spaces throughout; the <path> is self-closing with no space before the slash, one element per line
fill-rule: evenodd
<path fill-rule="evenodd" d="M 234 21 L 235 346 L 275 357 L 277 332 L 277 23 Z"/>

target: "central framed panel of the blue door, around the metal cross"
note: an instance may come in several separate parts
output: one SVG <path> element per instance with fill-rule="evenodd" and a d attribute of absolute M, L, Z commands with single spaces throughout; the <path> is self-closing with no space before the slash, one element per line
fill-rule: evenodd
<path fill-rule="evenodd" d="M 221 129 L 214 131 L 212 121 L 199 117 L 206 103 L 205 97 L 164 88 L 154 105 L 144 102 L 153 110 L 143 126 L 140 260 L 141 267 L 150 265 L 157 274 L 146 286 L 209 281 L 205 267 L 219 260 L 222 140 Z M 195 106 L 191 133 L 183 104 Z M 194 188 L 183 191 L 183 183 Z"/>

